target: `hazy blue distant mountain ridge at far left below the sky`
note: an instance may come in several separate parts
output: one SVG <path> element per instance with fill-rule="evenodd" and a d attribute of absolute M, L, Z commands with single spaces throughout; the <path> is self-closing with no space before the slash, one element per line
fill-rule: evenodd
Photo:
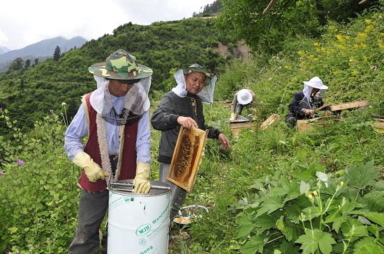
<path fill-rule="evenodd" d="M 41 40 L 32 45 L 24 47 L 22 49 L 9 50 L 6 51 L 6 47 L 0 47 L 0 53 L 3 51 L 5 53 L 0 54 L 0 72 L 5 72 L 8 69 L 10 62 L 15 60 L 17 57 L 21 57 L 24 61 L 30 59 L 33 63 L 36 58 L 46 59 L 47 57 L 53 57 L 54 49 L 59 46 L 61 53 L 64 53 L 75 47 L 81 47 L 85 42 L 84 38 L 77 36 L 70 40 L 57 37 L 47 40 Z"/>

